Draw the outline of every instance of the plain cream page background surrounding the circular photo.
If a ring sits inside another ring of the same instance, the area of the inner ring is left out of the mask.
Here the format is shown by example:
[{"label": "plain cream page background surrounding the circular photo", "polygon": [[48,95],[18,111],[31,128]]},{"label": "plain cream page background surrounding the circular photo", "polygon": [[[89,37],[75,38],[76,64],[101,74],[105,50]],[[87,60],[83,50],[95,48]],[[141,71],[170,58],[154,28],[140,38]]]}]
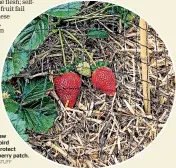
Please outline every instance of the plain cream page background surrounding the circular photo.
[{"label": "plain cream page background surrounding the circular photo", "polygon": [[[143,17],[160,35],[167,48],[174,64],[176,64],[176,47],[175,47],[175,30],[176,30],[176,2],[174,0],[109,0],[108,2],[116,3],[128,8]],[[5,28],[5,33],[0,34],[0,59],[2,74],[3,63],[8,49],[16,38],[18,33],[33,18],[44,11],[58,4],[65,3],[63,0],[35,0],[33,5],[26,6],[26,12],[11,12],[11,19],[0,20],[0,24]],[[175,168],[175,152],[176,152],[176,106],[174,105],[167,124],[159,134],[159,136],[138,155],[123,162],[120,165],[111,166],[119,168]],[[64,168],[63,166],[49,161],[34,150],[32,150],[14,131],[0,97],[0,134],[7,134],[10,139],[11,146],[17,148],[19,153],[27,153],[30,159],[16,159],[10,165],[0,165],[0,167],[31,168],[32,166],[42,168]],[[110,167],[109,167],[110,168]]]}]

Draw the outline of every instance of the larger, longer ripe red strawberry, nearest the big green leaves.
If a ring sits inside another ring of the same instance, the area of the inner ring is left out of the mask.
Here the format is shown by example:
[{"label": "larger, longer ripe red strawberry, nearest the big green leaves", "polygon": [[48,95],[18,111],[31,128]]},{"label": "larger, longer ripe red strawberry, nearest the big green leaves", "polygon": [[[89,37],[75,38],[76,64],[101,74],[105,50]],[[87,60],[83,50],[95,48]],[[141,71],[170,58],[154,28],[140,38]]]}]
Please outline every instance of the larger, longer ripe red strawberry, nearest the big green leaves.
[{"label": "larger, longer ripe red strawberry, nearest the big green leaves", "polygon": [[67,72],[54,78],[56,93],[64,105],[72,108],[75,103],[81,87],[81,79],[74,72]]}]

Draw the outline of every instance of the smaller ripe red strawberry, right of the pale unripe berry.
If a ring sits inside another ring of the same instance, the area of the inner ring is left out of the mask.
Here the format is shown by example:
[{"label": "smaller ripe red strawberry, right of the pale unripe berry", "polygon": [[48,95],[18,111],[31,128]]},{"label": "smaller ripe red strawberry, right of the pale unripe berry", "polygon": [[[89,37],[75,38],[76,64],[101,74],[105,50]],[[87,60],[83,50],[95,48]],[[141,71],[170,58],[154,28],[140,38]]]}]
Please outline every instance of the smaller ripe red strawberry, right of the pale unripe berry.
[{"label": "smaller ripe red strawberry, right of the pale unripe berry", "polygon": [[100,67],[93,72],[92,84],[96,89],[109,96],[113,96],[116,92],[115,75],[108,67]]}]

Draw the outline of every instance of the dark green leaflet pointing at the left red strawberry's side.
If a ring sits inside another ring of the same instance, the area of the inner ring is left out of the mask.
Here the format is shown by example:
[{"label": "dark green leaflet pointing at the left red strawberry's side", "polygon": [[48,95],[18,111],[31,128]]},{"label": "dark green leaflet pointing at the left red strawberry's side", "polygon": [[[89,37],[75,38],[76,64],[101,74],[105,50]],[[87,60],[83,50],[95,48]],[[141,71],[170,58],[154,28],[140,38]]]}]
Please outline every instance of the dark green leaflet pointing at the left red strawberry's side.
[{"label": "dark green leaflet pointing at the left red strawberry's side", "polygon": [[22,101],[29,103],[47,97],[45,92],[52,86],[53,84],[48,80],[48,78],[33,79],[27,84],[27,86],[25,86]]}]

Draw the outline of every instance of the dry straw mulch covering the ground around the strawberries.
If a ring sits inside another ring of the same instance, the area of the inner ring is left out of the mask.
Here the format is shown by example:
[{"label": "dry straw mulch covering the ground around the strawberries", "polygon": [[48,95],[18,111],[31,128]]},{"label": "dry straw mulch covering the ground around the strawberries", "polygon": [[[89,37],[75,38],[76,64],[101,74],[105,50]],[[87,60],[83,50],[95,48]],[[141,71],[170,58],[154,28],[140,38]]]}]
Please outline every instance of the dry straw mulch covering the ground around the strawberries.
[{"label": "dry straw mulch covering the ground around the strawberries", "polygon": [[[57,117],[47,133],[28,131],[28,143],[46,158],[60,164],[104,167],[125,161],[155,139],[172,108],[175,76],[163,41],[150,25],[140,27],[139,16],[128,21],[127,14],[119,16],[112,12],[112,4],[106,7],[105,4],[82,2],[81,11],[71,17],[70,9],[73,8],[68,3],[66,20],[49,17],[50,35],[36,50],[28,50],[29,65],[16,76],[25,79],[21,97],[34,78],[44,77],[42,85],[46,90],[47,79],[52,81],[58,68],[64,66],[59,34],[52,33],[53,28],[63,30],[67,63],[72,63],[75,57],[91,63],[84,49],[92,54],[95,61],[110,62],[109,67],[117,82],[114,97],[95,90],[91,79],[84,76],[81,76],[81,91],[73,109],[63,106],[54,89],[47,91],[57,104]],[[109,37],[88,38],[91,28],[106,30]],[[141,44],[141,29],[147,34],[146,45]],[[64,30],[76,37],[82,46]],[[142,48],[147,53],[144,60]],[[146,72],[143,67],[147,67]],[[145,74],[148,74],[146,80]],[[43,99],[38,120],[43,113]],[[19,113],[22,105],[23,101],[20,102]],[[35,124],[37,127],[38,123]]]}]

